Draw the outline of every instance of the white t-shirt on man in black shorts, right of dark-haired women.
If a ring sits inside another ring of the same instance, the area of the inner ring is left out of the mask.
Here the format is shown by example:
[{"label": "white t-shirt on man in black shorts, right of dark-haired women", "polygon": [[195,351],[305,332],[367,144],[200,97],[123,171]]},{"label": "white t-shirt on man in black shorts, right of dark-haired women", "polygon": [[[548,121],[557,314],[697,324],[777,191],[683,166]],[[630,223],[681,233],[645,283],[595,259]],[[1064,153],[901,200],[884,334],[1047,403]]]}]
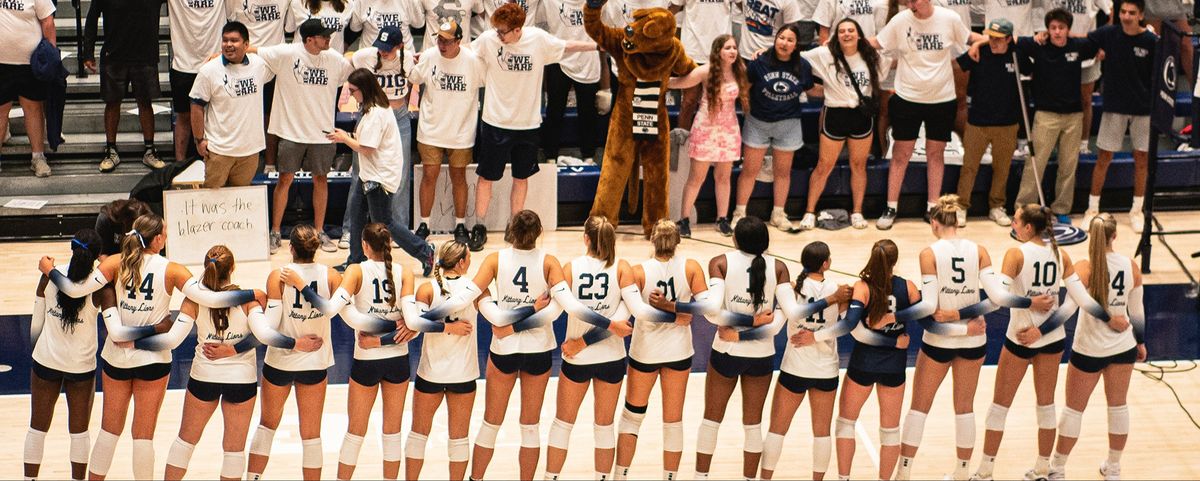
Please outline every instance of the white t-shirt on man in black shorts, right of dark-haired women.
[{"label": "white t-shirt on man in black shorts, right of dark-haired women", "polygon": [[934,6],[929,18],[917,18],[911,10],[898,13],[880,30],[880,46],[898,60],[895,91],[916,103],[954,100],[954,71],[950,61],[970,38],[959,17]]}]

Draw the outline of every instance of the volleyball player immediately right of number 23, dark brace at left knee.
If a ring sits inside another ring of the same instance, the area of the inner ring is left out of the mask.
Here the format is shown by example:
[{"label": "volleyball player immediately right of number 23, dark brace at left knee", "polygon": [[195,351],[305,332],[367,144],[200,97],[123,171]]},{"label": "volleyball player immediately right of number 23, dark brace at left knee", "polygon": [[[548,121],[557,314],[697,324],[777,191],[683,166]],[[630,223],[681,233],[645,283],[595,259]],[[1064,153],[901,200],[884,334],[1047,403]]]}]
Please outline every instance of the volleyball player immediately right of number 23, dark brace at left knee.
[{"label": "volleyball player immediately right of number 23, dark brace at left knee", "polygon": [[625,408],[617,422],[613,480],[624,480],[629,475],[650,390],[659,378],[662,379],[662,479],[677,479],[683,458],[683,405],[694,354],[691,314],[672,314],[646,302],[652,295],[662,296],[668,302],[688,302],[708,290],[708,285],[700,263],[677,255],[679,226],[674,222],[656,222],[650,232],[650,243],[654,245],[654,257],[632,266],[631,278],[622,279],[620,284],[622,300],[637,321],[629,343],[629,383],[625,385]]}]

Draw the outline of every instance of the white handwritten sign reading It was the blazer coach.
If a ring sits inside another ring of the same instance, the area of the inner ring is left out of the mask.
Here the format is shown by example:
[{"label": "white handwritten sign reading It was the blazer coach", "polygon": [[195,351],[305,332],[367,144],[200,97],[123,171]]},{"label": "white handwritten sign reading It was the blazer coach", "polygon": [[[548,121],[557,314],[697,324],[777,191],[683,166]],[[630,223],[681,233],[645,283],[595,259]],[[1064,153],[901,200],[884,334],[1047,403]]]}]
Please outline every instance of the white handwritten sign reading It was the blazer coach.
[{"label": "white handwritten sign reading It was the blazer coach", "polygon": [[204,263],[215,245],[238,261],[268,260],[266,186],[163,192],[167,257],[185,265]]}]

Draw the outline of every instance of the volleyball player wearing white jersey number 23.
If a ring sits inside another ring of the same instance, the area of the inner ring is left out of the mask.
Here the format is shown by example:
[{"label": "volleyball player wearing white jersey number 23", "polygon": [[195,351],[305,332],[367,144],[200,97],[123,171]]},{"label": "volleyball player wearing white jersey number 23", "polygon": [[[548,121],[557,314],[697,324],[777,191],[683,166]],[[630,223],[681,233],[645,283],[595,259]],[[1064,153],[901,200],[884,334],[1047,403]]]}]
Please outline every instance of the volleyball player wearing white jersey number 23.
[{"label": "volleyball player wearing white jersey number 23", "polygon": [[566,462],[571,429],[580,404],[593,390],[593,440],[595,475],[607,479],[616,457],[613,420],[620,383],[625,378],[625,342],[632,333],[629,309],[622,302],[620,281],[631,282],[629,263],[617,260],[617,229],[604,217],[583,224],[587,254],[563,267],[564,283],[552,289],[553,299],[570,314],[563,363],[558,377],[558,402],[546,449],[546,479],[557,480]]}]

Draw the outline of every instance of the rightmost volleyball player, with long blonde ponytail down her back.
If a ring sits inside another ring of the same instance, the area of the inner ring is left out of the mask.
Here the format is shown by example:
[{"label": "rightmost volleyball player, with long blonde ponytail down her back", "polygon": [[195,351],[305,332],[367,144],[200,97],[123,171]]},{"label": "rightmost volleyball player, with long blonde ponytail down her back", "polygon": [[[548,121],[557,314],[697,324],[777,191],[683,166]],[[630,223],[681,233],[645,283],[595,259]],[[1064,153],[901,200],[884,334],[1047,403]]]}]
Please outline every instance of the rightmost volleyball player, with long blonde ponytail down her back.
[{"label": "rightmost volleyball player, with long blonde ponytail down her back", "polygon": [[1129,439],[1129,377],[1133,363],[1146,360],[1141,271],[1128,257],[1112,251],[1117,222],[1111,215],[1092,220],[1087,234],[1087,259],[1075,264],[1075,272],[1087,279],[1085,285],[1094,303],[1082,305],[1075,324],[1067,367],[1067,407],[1058,421],[1058,444],[1048,476],[1051,480],[1066,477],[1067,456],[1079,440],[1084,409],[1100,377],[1109,405],[1109,456],[1100,463],[1100,474],[1106,480],[1121,479],[1121,452]]}]

